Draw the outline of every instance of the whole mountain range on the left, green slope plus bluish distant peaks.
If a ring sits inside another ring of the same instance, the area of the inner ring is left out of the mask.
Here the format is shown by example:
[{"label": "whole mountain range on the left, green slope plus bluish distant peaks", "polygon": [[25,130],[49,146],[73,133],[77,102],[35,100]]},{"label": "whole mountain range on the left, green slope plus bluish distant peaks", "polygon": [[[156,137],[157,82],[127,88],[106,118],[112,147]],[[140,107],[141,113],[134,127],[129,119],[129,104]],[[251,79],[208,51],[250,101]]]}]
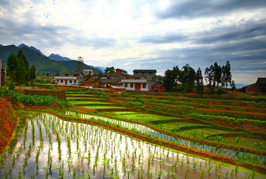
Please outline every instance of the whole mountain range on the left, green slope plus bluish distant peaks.
[{"label": "whole mountain range on the left, green slope plus bluish distant peaks", "polygon": [[[66,72],[75,72],[76,70],[75,60],[71,60],[68,57],[62,57],[58,54],[51,54],[46,57],[40,50],[33,46],[29,47],[23,43],[17,47],[15,45],[0,45],[0,58],[2,60],[2,64],[6,64],[7,57],[11,53],[16,55],[19,49],[21,49],[26,55],[29,65],[34,65],[36,67],[36,72],[48,72],[50,75],[55,75],[57,72],[64,74]],[[102,67],[93,67],[84,64],[84,68],[93,69],[102,73],[104,72]]]}]

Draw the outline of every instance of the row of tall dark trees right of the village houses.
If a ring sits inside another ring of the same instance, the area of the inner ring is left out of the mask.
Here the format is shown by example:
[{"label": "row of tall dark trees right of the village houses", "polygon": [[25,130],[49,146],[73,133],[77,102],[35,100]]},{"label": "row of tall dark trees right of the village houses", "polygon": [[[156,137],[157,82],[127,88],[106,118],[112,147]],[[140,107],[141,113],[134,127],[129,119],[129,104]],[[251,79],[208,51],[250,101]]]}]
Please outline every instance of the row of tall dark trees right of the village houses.
[{"label": "row of tall dark trees right of the village houses", "polygon": [[[207,67],[204,71],[204,80],[207,84],[207,89],[209,93],[214,93],[215,86],[217,85],[217,91],[219,84],[223,89],[227,90],[228,83],[233,84],[232,74],[231,74],[230,62],[227,61],[226,65],[222,67],[214,63],[210,67]],[[200,68],[195,70],[188,64],[183,66],[181,69],[178,66],[173,67],[173,70],[167,70],[164,77],[159,77],[160,81],[165,85],[168,91],[176,92],[190,92],[193,89],[197,90],[198,94],[203,93],[203,76]],[[232,86],[231,86],[232,87]]]}]

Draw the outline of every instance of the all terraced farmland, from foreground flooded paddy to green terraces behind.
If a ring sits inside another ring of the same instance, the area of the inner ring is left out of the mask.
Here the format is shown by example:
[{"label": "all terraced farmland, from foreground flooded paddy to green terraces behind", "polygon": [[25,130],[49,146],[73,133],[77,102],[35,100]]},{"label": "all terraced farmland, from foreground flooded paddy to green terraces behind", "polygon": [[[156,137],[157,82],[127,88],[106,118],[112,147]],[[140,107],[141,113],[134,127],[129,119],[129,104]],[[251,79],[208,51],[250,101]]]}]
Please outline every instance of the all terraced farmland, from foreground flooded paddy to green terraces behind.
[{"label": "all terraced farmland, from foreground flooded paddy to green terraces behind", "polygon": [[1,178],[266,177],[263,98],[66,93],[77,107],[17,110]]}]

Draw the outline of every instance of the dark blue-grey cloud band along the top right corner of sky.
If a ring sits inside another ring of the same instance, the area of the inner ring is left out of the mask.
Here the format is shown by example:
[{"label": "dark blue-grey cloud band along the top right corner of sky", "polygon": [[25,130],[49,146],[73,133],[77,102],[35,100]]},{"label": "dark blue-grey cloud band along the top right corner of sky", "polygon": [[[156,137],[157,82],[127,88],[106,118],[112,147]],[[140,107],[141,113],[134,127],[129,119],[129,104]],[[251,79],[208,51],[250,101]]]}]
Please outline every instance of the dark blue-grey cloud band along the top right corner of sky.
[{"label": "dark blue-grey cloud band along the top right corner of sky", "polygon": [[161,19],[217,17],[265,6],[265,0],[183,0],[174,1],[165,10],[157,11],[157,17]]}]

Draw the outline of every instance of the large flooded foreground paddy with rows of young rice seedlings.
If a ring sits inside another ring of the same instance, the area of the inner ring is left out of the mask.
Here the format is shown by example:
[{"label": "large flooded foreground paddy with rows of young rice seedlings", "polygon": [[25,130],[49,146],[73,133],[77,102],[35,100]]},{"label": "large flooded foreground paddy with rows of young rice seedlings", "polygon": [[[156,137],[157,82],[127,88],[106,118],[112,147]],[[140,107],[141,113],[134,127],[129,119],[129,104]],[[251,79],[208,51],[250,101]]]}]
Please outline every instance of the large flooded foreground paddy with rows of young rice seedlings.
[{"label": "large flooded foreground paddy with rows of young rice seedlings", "polygon": [[[263,179],[238,166],[136,140],[101,126],[23,113],[25,125],[0,156],[6,179]],[[12,144],[12,143],[11,143]]]}]

